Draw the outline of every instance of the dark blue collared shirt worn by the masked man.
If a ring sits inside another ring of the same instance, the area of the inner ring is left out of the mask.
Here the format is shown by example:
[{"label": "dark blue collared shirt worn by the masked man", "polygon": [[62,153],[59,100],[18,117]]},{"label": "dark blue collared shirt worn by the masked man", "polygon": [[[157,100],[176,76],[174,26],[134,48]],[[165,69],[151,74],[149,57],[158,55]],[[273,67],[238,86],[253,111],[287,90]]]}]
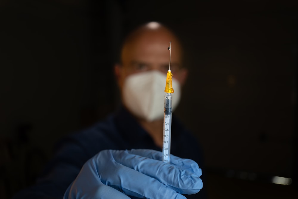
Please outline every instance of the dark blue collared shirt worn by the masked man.
[{"label": "dark blue collared shirt worn by the masked man", "polygon": [[[104,121],[63,139],[58,144],[55,157],[47,164],[36,185],[19,192],[14,199],[61,199],[83,164],[105,149],[162,150],[154,144],[152,138],[134,117],[121,108]],[[201,150],[195,138],[174,116],[172,118],[171,154],[180,158],[192,159],[200,167],[203,164]],[[202,172],[204,174],[204,169]],[[204,188],[198,194],[185,196],[187,198],[205,198],[206,190]]]}]

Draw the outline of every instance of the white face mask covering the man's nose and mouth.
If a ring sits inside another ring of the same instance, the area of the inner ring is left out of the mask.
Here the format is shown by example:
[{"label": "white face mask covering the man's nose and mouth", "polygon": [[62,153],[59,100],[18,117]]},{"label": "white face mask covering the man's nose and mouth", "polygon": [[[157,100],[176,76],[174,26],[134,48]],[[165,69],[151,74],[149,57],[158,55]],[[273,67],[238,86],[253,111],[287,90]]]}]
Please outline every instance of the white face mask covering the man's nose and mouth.
[{"label": "white face mask covering the man's nose and mouth", "polygon": [[[175,75],[175,74],[174,74]],[[139,118],[154,121],[164,115],[164,88],[167,75],[152,70],[129,75],[123,85],[123,103],[128,110]],[[181,90],[180,83],[175,78],[173,84],[172,109],[179,104]]]}]

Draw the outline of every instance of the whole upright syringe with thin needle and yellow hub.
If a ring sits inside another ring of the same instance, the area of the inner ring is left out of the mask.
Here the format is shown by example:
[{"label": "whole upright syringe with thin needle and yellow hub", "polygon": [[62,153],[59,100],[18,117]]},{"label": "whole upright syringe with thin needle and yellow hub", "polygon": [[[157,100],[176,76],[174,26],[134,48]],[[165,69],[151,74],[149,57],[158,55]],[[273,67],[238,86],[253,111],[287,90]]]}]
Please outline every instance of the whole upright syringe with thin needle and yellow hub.
[{"label": "whole upright syringe with thin needle and yellow hub", "polygon": [[170,70],[171,67],[171,46],[172,41],[170,41],[170,64],[169,70],[167,72],[167,81],[164,92],[164,129],[163,129],[163,144],[162,144],[162,161],[166,163],[170,163],[170,152],[171,152],[171,127],[172,127],[172,93],[174,89],[172,88],[172,72]]}]

